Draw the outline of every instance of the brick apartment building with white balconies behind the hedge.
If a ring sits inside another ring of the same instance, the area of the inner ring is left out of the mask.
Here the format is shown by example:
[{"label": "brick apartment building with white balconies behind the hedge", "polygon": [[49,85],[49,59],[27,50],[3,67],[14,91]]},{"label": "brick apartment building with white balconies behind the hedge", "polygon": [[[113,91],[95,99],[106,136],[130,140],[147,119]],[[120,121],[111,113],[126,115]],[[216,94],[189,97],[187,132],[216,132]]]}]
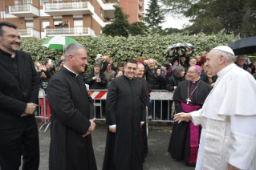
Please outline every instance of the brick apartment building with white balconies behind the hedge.
[{"label": "brick apartment building with white balconies behind the hedge", "polygon": [[0,21],[13,22],[23,38],[93,37],[113,22],[114,5],[128,8],[127,14],[132,13],[130,22],[142,19],[142,1],[120,1],[131,3],[126,6],[119,0],[0,0]]}]

